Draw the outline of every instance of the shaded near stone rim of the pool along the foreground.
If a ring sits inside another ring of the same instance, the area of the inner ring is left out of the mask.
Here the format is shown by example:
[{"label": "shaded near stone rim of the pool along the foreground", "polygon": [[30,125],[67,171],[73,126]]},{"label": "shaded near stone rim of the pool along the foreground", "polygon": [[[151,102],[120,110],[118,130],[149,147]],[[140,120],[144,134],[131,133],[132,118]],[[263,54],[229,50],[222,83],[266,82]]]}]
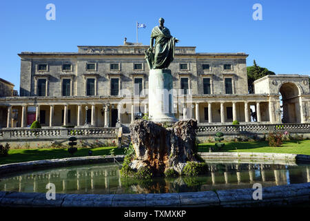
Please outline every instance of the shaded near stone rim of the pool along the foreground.
[{"label": "shaded near stone rim of the pool along the foreground", "polygon": [[0,206],[22,207],[145,207],[145,206],[285,206],[310,200],[310,182],[262,188],[262,200],[254,200],[255,189],[147,194],[63,194],[47,200],[45,193],[1,192]]}]

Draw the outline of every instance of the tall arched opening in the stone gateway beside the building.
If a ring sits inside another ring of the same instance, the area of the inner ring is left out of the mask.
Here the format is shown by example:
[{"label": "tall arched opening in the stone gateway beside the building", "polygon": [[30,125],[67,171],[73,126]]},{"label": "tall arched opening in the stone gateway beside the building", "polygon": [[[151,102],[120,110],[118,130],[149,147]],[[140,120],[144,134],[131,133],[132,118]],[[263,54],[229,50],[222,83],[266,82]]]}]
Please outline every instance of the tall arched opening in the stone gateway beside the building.
[{"label": "tall arched opening in the stone gateway beside the building", "polygon": [[293,82],[283,82],[278,93],[282,95],[283,123],[300,123],[300,95],[301,88]]}]

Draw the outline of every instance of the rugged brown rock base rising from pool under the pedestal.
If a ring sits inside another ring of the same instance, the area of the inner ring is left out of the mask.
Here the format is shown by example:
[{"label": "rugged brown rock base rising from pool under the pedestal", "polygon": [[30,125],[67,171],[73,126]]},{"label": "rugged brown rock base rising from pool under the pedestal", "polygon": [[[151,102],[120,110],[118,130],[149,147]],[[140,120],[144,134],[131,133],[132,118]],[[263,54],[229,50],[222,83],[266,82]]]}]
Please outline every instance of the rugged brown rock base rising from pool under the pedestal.
[{"label": "rugged brown rock base rising from pool under the pedestal", "polygon": [[130,168],[138,171],[147,167],[155,176],[174,169],[180,175],[186,162],[196,162],[196,128],[194,119],[176,122],[169,128],[144,119],[135,120],[130,125],[130,135],[136,157]]}]

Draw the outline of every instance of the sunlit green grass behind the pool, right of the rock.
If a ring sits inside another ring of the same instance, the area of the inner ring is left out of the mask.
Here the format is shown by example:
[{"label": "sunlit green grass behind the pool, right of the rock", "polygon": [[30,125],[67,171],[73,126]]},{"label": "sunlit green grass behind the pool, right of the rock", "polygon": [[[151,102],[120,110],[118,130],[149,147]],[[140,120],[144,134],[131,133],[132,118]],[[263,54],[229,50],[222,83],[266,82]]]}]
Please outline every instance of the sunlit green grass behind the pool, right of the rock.
[{"label": "sunlit green grass behind the pool, right of the rock", "polygon": [[[214,143],[199,144],[198,151],[209,152],[209,147]],[[295,153],[310,155],[310,140],[298,142],[283,142],[280,147],[268,146],[268,142],[226,142],[223,152],[250,152],[250,153]]]}]

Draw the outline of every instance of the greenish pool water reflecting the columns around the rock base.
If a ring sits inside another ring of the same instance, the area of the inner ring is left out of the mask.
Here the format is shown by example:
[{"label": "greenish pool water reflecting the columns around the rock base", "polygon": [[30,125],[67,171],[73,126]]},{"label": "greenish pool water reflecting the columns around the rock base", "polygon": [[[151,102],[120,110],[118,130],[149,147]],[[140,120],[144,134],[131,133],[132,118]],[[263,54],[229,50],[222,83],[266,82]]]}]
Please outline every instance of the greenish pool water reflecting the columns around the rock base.
[{"label": "greenish pool water reflecting the columns around the rock base", "polygon": [[0,178],[0,191],[45,193],[52,182],[56,193],[177,193],[252,188],[310,182],[310,166],[280,164],[213,164],[198,177],[155,177],[152,180],[122,178],[116,164],[94,164],[48,169]]}]

